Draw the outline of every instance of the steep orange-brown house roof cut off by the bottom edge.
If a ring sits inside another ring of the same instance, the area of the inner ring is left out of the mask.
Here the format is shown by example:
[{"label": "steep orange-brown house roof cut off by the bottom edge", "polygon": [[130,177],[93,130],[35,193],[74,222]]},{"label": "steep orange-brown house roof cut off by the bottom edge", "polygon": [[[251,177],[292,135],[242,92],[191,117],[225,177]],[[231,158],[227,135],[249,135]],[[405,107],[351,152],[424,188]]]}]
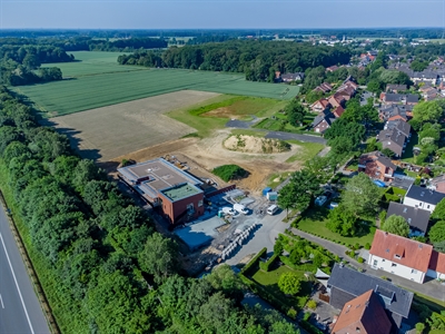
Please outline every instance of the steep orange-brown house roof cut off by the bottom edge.
[{"label": "steep orange-brown house roof cut off by the bottom edge", "polygon": [[343,306],[332,333],[389,334],[392,326],[377,293],[369,289]]}]

